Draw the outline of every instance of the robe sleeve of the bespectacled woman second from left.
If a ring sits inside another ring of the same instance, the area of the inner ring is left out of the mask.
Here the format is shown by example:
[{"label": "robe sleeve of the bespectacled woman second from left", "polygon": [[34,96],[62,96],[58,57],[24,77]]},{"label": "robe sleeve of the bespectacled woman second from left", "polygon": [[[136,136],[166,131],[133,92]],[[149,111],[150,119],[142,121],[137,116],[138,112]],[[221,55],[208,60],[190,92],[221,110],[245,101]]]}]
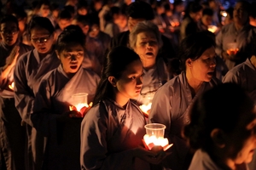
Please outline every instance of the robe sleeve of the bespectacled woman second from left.
[{"label": "robe sleeve of the bespectacled woman second from left", "polygon": [[22,121],[32,126],[31,113],[34,104],[34,94],[27,85],[26,65],[22,60],[15,66],[15,107],[19,111]]}]

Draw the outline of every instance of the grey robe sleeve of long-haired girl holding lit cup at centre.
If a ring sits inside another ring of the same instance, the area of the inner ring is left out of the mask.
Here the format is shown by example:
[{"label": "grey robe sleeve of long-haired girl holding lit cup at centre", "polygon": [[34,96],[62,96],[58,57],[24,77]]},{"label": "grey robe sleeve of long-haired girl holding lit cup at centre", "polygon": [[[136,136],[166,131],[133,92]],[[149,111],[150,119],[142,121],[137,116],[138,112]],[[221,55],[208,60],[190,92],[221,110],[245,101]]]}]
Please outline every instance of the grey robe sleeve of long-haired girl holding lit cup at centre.
[{"label": "grey robe sleeve of long-haired girl holding lit cup at centre", "polygon": [[108,113],[103,110],[96,105],[84,116],[81,124],[81,168],[132,169],[132,150],[108,153]]}]

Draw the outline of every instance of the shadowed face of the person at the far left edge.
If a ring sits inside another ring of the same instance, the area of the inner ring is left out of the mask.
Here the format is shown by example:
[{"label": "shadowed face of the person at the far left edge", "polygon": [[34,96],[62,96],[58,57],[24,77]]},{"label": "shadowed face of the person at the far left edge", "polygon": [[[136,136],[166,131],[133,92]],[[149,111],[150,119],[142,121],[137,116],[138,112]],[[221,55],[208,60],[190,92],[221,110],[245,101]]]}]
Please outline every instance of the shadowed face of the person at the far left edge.
[{"label": "shadowed face of the person at the far left edge", "polygon": [[17,41],[19,33],[19,28],[15,22],[3,23],[1,24],[0,29],[0,35],[3,39],[3,42],[8,46],[14,45]]}]

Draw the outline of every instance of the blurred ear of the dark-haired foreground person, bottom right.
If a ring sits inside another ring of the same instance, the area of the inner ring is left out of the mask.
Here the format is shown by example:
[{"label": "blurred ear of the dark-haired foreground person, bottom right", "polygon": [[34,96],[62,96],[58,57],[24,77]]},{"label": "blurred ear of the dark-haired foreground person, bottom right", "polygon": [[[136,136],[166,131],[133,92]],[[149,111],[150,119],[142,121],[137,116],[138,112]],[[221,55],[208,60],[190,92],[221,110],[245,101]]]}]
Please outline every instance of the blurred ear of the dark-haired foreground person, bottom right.
[{"label": "blurred ear of the dark-haired foreground person, bottom right", "polygon": [[217,145],[219,148],[225,147],[225,134],[223,130],[219,128],[214,128],[211,132],[211,138],[215,145]]}]

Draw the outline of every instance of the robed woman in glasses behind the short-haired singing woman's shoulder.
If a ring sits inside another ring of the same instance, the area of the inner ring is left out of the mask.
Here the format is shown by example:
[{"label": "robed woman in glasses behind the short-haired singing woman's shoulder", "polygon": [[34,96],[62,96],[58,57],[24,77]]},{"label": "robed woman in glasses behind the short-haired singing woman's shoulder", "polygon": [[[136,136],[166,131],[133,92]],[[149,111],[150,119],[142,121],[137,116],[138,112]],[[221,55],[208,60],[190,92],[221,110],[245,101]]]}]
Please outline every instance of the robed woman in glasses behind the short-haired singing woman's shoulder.
[{"label": "robed woman in glasses behind the short-haired singing woman's shoulder", "polygon": [[[44,139],[44,136],[32,128],[32,107],[35,94],[38,92],[38,83],[47,72],[60,65],[60,60],[55,54],[55,30],[49,19],[32,18],[28,31],[34,49],[21,56],[15,66],[15,106],[27,128],[26,169],[38,169],[42,165],[44,151],[44,143],[38,139]],[[41,147],[42,150],[34,150],[37,147]]]}]

